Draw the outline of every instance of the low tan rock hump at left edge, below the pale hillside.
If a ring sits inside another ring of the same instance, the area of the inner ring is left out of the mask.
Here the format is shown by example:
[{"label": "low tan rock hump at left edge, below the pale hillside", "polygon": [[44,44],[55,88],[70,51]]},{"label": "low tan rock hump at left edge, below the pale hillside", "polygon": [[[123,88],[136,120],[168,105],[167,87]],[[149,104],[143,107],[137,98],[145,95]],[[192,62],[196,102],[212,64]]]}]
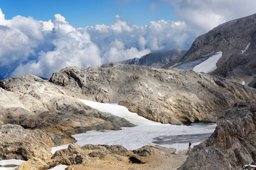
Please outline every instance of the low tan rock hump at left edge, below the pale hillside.
[{"label": "low tan rock hump at left edge, below the pale hillside", "polygon": [[51,133],[24,129],[19,125],[0,126],[0,158],[28,160],[37,157],[46,160],[51,156]]}]

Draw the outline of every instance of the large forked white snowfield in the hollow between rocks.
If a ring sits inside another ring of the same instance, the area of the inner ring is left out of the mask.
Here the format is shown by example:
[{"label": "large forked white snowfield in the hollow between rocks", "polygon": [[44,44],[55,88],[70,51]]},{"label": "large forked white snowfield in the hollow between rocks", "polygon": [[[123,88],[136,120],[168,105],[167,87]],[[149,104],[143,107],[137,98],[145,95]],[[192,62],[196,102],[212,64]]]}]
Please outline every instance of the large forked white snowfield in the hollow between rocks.
[{"label": "large forked white snowfield in the hollow between rocks", "polygon": [[[146,145],[156,145],[153,143],[154,138],[156,137],[165,137],[171,135],[184,135],[185,137],[187,135],[189,137],[189,135],[192,134],[213,133],[216,128],[216,124],[208,126],[160,124],[159,122],[150,121],[146,118],[138,116],[137,113],[131,113],[126,107],[121,105],[97,103],[95,101],[81,99],[79,100],[90,107],[98,109],[101,112],[108,112],[114,114],[115,116],[123,117],[127,121],[130,121],[136,125],[133,128],[123,127],[122,130],[92,130],[86,131],[86,133],[72,135],[72,137],[77,140],[77,144],[80,146],[86,144],[122,145],[123,147],[127,148],[127,150],[135,150]],[[192,146],[198,145],[200,142],[192,143]],[[176,152],[179,152],[188,148],[188,142],[177,142],[161,146],[176,148]],[[54,154],[56,150],[67,147],[68,145],[53,147],[51,152]]]}]

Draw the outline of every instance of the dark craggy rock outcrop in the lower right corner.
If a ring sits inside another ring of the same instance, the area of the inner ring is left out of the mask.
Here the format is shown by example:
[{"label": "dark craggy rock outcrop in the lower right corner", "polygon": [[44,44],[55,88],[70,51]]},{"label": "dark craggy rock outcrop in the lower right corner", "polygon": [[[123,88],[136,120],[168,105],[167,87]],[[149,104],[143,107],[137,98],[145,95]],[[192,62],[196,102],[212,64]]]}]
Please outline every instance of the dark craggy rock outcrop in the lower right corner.
[{"label": "dark craggy rock outcrop in the lower right corner", "polygon": [[240,169],[256,159],[255,103],[226,111],[210,138],[195,146],[180,169]]}]

